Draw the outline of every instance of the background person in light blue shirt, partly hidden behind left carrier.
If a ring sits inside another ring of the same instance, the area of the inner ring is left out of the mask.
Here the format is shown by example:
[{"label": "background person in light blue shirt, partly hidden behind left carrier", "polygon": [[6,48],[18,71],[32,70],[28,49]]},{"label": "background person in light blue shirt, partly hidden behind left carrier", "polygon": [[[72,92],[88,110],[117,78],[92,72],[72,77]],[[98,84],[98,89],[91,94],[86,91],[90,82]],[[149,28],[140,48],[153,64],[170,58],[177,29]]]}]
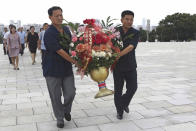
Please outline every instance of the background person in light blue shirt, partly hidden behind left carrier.
[{"label": "background person in light blue shirt, partly hidden behind left carrier", "polygon": [[40,36],[39,36],[39,44],[38,44],[38,49],[41,49],[41,53],[42,53],[42,60],[46,54],[46,47],[44,45],[44,34],[45,31],[48,29],[48,23],[44,23],[43,24],[43,30],[42,32],[40,32]]}]

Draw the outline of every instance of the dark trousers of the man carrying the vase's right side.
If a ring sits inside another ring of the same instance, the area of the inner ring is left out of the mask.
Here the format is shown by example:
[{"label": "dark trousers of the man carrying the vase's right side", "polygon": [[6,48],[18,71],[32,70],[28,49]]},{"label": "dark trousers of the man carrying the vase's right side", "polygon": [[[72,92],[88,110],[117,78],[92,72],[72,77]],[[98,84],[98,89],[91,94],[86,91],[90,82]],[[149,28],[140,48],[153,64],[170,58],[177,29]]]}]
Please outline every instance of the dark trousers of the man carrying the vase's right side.
[{"label": "dark trousers of the man carrying the vase's right side", "polygon": [[[133,95],[137,90],[137,71],[136,69],[121,72],[114,69],[114,103],[119,114],[123,114],[123,109],[129,106]],[[123,92],[124,81],[126,81],[126,92]]]}]

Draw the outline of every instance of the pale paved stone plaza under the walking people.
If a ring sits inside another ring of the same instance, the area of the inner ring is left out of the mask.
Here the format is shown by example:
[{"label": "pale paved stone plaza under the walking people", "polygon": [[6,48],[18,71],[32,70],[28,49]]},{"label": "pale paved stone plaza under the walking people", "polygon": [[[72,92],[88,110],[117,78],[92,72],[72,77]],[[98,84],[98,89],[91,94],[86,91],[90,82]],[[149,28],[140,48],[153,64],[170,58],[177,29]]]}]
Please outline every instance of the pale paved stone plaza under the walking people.
[{"label": "pale paved stone plaza under the walking people", "polygon": [[[37,54],[31,65],[25,49],[16,71],[0,45],[0,131],[196,131],[196,42],[139,43],[139,87],[123,120],[116,119],[113,96],[94,99],[97,84],[75,75],[73,119],[63,129],[56,127]],[[111,74],[106,83],[113,89]]]}]

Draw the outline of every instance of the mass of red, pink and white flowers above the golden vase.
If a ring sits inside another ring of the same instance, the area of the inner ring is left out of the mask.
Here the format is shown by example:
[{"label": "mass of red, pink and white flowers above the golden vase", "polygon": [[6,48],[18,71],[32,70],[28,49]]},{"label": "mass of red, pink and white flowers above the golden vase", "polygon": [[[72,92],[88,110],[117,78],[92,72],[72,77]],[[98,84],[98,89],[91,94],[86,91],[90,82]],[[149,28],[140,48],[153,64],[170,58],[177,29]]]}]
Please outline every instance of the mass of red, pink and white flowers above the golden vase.
[{"label": "mass of red, pink and white flowers above the golden vase", "polygon": [[104,27],[95,19],[86,19],[73,32],[70,54],[78,62],[79,71],[88,75],[99,67],[113,69],[122,41],[115,27]]}]

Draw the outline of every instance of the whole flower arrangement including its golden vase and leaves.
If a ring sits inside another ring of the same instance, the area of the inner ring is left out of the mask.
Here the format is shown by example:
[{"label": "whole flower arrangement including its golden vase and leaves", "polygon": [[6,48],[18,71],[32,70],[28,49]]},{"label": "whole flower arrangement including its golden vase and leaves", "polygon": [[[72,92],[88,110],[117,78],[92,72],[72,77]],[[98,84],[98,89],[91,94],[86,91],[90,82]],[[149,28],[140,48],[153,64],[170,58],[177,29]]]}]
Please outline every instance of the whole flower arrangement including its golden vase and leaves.
[{"label": "whole flower arrangement including its golden vase and leaves", "polygon": [[98,82],[99,92],[95,98],[113,94],[112,90],[106,88],[105,79],[109,68],[113,70],[123,45],[120,32],[112,27],[113,23],[110,23],[112,20],[109,18],[106,23],[102,21],[102,24],[95,19],[86,19],[83,25],[69,22],[72,40],[66,33],[60,35],[61,46],[69,49],[71,57],[79,65],[78,73],[82,77],[90,74]]}]

